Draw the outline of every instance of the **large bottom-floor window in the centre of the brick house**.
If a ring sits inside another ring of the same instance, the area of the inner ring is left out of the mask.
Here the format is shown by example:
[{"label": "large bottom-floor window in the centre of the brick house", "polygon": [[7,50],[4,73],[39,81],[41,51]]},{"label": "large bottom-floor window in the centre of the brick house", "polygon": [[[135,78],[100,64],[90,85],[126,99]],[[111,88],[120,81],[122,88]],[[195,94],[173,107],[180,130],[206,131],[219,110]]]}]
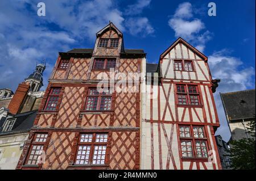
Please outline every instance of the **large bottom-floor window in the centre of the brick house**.
[{"label": "large bottom-floor window in the centre of the brick house", "polygon": [[107,133],[81,134],[75,163],[77,165],[104,165],[107,143]]}]

